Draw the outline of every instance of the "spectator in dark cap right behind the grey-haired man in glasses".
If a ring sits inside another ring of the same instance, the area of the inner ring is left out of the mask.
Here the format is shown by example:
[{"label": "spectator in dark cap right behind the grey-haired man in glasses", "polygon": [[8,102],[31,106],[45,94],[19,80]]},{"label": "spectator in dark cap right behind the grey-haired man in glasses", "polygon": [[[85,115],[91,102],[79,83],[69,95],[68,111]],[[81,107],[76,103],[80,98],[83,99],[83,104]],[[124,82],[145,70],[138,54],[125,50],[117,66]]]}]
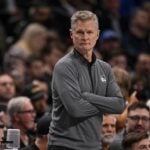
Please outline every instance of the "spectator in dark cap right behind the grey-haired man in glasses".
[{"label": "spectator in dark cap right behind the grey-haired man in glasses", "polygon": [[36,111],[36,121],[49,111],[47,104],[48,86],[45,82],[38,80],[32,81],[32,83],[25,85],[22,95],[31,99]]}]

